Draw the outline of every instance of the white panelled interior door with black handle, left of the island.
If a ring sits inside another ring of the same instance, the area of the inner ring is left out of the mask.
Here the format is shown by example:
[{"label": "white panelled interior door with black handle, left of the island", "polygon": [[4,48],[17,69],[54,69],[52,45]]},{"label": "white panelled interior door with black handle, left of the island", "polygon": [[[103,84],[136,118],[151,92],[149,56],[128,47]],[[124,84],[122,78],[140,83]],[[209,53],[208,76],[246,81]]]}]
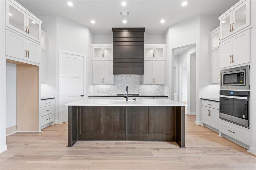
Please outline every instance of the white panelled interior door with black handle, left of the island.
[{"label": "white panelled interior door with black handle, left of the island", "polygon": [[62,122],[68,121],[66,103],[84,99],[84,57],[61,53],[62,57]]}]

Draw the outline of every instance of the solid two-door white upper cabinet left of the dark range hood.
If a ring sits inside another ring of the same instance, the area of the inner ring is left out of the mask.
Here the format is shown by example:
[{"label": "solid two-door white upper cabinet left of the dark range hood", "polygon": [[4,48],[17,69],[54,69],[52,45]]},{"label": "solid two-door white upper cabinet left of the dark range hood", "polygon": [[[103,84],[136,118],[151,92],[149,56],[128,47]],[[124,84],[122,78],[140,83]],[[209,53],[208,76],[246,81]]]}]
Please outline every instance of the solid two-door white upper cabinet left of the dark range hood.
[{"label": "solid two-door white upper cabinet left of the dark range hood", "polygon": [[92,84],[114,84],[113,60],[92,61]]}]

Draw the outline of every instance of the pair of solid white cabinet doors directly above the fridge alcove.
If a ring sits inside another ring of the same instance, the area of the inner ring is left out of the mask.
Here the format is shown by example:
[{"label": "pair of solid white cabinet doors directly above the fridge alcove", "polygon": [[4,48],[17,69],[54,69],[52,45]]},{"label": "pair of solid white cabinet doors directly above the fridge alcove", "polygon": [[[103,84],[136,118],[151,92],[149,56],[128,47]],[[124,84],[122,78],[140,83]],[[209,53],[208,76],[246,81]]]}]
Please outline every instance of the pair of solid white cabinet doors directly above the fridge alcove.
[{"label": "pair of solid white cabinet doors directly above the fridge alcove", "polygon": [[5,55],[40,63],[41,45],[12,31],[5,30]]}]

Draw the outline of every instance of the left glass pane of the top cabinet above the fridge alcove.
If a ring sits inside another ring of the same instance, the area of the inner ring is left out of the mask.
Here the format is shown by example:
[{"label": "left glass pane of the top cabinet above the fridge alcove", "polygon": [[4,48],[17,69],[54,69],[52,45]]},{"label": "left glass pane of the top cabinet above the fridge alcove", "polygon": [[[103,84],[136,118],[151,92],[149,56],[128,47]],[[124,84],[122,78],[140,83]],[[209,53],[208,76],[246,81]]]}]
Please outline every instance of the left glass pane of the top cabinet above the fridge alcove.
[{"label": "left glass pane of the top cabinet above the fridge alcove", "polygon": [[9,5],[9,9],[10,25],[24,31],[24,14],[11,5]]}]

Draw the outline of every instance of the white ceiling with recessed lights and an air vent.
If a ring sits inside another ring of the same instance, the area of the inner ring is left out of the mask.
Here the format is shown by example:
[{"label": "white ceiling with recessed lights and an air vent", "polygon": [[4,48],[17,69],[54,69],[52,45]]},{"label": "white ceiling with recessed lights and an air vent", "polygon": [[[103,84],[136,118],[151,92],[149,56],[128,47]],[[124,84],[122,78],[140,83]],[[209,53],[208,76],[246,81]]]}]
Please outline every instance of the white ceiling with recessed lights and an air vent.
[{"label": "white ceiling with recessed lights and an air vent", "polygon": [[[238,0],[17,0],[36,16],[59,16],[88,26],[93,34],[111,34],[112,27],[146,27],[146,34],[164,34],[169,25],[199,14],[221,15]],[[120,16],[119,11],[130,11]],[[123,24],[122,20],[127,23]],[[165,19],[161,24],[160,20]],[[95,20],[95,24],[91,24]]]}]

